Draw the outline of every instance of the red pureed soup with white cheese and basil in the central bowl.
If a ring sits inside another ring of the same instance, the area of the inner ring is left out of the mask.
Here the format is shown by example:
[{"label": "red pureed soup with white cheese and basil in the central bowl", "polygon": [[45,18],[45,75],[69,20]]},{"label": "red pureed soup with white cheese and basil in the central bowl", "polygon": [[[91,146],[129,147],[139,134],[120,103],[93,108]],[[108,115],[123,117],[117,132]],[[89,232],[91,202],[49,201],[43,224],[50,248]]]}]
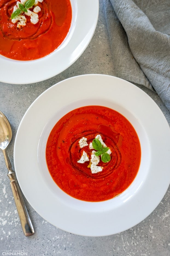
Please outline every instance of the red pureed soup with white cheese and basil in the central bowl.
[{"label": "red pureed soup with white cheese and basil in the central bowl", "polygon": [[55,124],[46,144],[52,179],[83,201],[104,201],[122,193],[136,177],[140,158],[131,123],[104,106],[69,112]]}]

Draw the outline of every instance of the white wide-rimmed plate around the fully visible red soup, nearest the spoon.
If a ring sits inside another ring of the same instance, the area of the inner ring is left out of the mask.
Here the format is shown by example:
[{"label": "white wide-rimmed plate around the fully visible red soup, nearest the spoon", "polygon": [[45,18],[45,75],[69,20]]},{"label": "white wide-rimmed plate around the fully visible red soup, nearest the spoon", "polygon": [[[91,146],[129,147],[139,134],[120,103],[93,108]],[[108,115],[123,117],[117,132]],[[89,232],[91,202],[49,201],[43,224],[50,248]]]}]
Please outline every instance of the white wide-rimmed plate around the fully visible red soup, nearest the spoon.
[{"label": "white wide-rimmed plate around the fully visible red soup, nearest the spoon", "polygon": [[[64,193],[45,161],[46,141],[54,124],[86,105],[103,105],[123,114],[141,144],[135,180],[121,195],[103,202],[80,201]],[[125,80],[91,74],[61,81],[33,102],[17,131],[14,165],[22,192],[45,220],[74,234],[104,236],[129,229],[157,207],[170,183],[169,152],[169,125],[156,103]]]}]

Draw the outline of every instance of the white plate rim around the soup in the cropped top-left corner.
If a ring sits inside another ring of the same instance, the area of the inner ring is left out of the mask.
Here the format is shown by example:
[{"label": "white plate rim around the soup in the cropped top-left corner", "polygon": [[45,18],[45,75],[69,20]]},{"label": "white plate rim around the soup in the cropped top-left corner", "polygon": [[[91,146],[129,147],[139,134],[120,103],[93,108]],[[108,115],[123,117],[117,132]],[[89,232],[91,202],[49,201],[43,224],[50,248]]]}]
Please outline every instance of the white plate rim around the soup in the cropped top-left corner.
[{"label": "white plate rim around the soup in the cropped top-left corner", "polygon": [[99,0],[70,1],[72,23],[64,42],[54,52],[38,60],[17,61],[0,55],[1,82],[28,84],[43,81],[61,73],[80,57],[94,34]]}]

